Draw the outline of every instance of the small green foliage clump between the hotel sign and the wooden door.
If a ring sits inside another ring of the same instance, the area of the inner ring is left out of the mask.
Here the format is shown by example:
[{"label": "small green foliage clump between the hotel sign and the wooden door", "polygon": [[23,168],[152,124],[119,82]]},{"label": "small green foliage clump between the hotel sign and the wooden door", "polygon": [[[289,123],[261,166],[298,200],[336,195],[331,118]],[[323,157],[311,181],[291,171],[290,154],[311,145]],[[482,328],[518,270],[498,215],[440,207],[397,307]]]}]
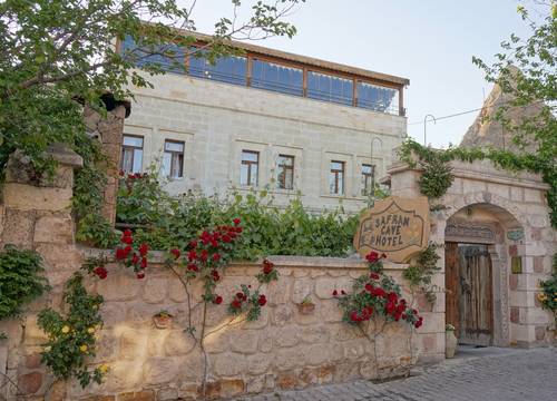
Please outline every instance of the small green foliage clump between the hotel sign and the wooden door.
[{"label": "small green foliage clump between the hotel sign and the wooden door", "polygon": [[429,303],[437,300],[436,287],[431,284],[433,275],[440,268],[437,267],[439,255],[436,252],[438,246],[429,244],[426,250],[420,252],[414,263],[408,266],[402,276],[409,281],[410,286],[418,286],[426,295]]}]

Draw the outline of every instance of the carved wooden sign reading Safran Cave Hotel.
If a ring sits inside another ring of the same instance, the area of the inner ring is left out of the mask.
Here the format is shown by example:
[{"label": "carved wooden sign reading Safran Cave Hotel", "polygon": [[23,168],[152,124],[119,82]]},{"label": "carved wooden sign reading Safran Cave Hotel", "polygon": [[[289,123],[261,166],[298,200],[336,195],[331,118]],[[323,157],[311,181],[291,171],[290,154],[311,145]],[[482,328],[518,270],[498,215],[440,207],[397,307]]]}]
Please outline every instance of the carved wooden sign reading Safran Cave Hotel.
[{"label": "carved wooden sign reading Safran Cave Hotel", "polygon": [[362,257],[375,251],[385,253],[391,262],[403,263],[428,246],[429,228],[427,197],[390,196],[361,216],[354,247]]}]

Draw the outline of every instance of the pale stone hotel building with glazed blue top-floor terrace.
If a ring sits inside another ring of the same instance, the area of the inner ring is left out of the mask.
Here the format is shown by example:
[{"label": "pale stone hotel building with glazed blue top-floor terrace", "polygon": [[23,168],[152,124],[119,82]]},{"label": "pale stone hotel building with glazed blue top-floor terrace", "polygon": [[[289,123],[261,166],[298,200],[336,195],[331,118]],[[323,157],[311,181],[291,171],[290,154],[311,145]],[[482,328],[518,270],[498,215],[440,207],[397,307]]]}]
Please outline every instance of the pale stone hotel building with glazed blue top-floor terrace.
[{"label": "pale stone hotel building with glazed blue top-floor terrace", "polygon": [[154,88],[133,88],[123,169],[158,160],[172,194],[268,187],[277,204],[301,192],[311,209],[364,207],[372,176],[407,135],[409,80],[235,45],[243,56],[185,58],[186,72],[167,65],[149,77]]}]

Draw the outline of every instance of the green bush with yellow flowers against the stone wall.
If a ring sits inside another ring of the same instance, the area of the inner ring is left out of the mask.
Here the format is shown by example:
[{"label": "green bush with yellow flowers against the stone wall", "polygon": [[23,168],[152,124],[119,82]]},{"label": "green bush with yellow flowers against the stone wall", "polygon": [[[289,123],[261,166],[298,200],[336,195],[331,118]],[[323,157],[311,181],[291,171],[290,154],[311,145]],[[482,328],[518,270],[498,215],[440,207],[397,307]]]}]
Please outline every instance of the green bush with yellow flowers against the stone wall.
[{"label": "green bush with yellow flowers against the stone wall", "polygon": [[87,369],[87,360],[96,353],[95,333],[102,325],[99,313],[102,296],[89,295],[82,278],[80,273],[76,273],[66,283],[63,302],[69,306],[68,313],[61,315],[47,307],[39,313],[38,324],[48,335],[42,362],[57,379],[75,376],[85,388],[91,381],[100,384],[107,368]]}]

